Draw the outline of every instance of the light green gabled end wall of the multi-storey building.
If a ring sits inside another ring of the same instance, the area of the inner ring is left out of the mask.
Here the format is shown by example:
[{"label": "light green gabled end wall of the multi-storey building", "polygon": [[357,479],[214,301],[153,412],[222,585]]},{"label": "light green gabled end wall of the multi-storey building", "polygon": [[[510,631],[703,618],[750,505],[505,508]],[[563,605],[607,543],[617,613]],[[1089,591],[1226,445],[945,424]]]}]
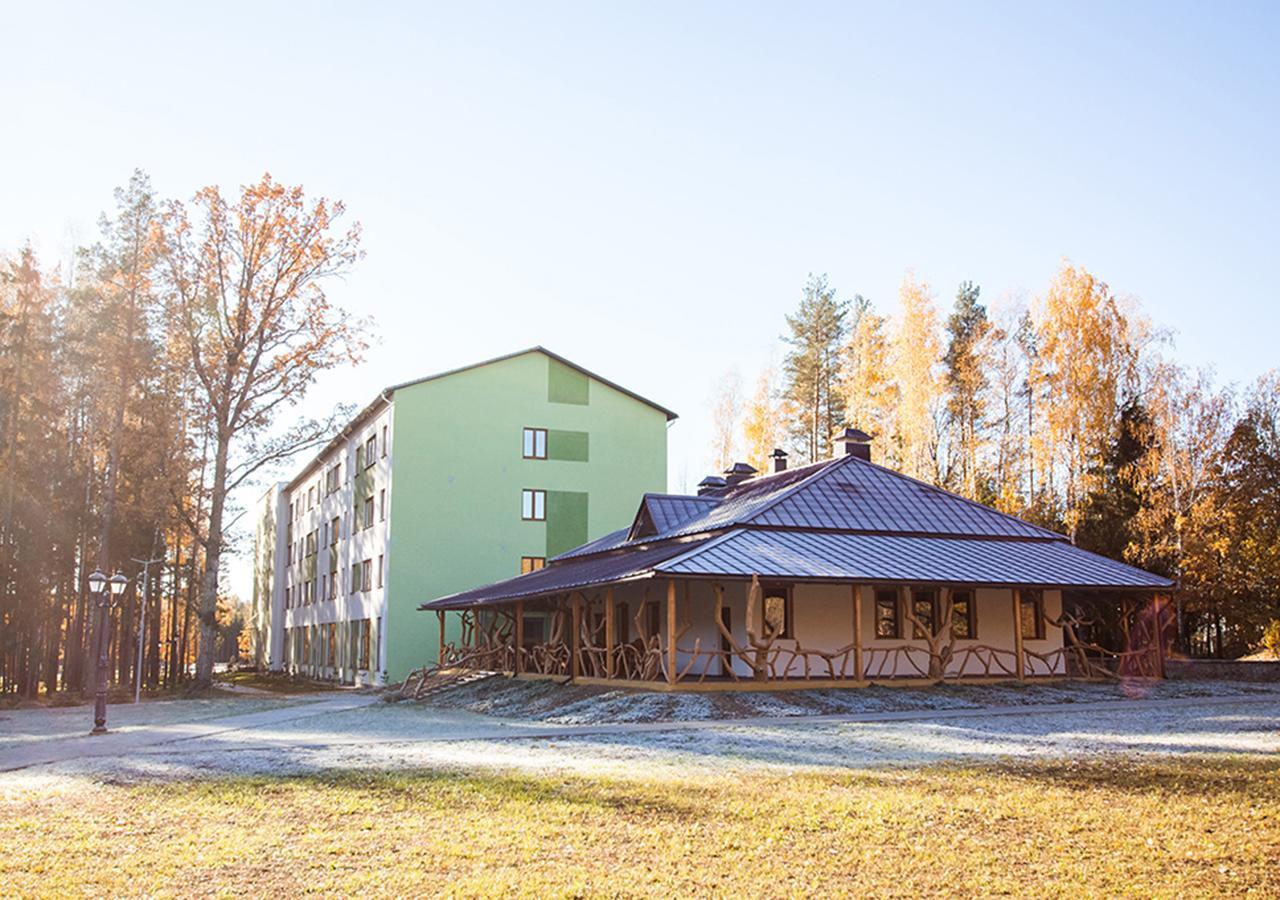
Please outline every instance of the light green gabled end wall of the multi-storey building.
[{"label": "light green gabled end wall of the multi-storey building", "polygon": [[[393,415],[384,626],[393,681],[435,661],[436,616],[420,603],[518,575],[522,556],[623,527],[641,494],[667,486],[666,416],[543,353],[402,388]],[[561,458],[524,460],[524,428],[548,429],[549,457],[561,434]],[[521,520],[525,488],[547,492],[547,522]],[[452,623],[447,636],[456,638]]]}]

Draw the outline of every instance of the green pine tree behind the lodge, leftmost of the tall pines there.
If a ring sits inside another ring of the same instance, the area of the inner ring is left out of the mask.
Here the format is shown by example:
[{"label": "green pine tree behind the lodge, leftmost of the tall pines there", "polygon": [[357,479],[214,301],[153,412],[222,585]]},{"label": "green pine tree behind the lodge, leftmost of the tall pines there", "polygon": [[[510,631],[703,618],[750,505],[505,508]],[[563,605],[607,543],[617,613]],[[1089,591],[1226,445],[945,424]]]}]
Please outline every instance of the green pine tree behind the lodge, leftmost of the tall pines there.
[{"label": "green pine tree behind the lodge, leftmost of the tall pines there", "polygon": [[840,387],[841,350],[847,306],[836,300],[826,275],[809,275],[800,309],[787,316],[791,347],[783,365],[786,398],[792,408],[792,439],[806,461],[831,453],[831,438],[844,422]]}]

